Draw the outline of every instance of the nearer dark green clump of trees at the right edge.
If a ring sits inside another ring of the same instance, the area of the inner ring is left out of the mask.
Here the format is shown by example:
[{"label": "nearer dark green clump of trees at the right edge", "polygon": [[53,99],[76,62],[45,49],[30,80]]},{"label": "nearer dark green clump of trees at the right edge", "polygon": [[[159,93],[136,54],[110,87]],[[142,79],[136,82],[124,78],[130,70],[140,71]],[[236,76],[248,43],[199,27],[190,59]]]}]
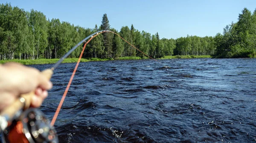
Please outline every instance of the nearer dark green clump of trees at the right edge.
[{"label": "nearer dark green clump of trees at the right edge", "polygon": [[216,51],[213,57],[256,57],[256,10],[247,8],[239,14],[238,22],[227,25],[223,34],[214,37]]}]

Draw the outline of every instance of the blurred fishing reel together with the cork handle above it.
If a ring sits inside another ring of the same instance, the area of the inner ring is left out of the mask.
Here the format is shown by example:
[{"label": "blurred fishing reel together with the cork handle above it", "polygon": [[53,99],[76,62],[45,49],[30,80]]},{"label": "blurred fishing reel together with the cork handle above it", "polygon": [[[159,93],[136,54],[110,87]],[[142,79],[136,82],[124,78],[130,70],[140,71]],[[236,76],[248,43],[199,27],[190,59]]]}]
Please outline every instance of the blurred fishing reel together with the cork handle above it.
[{"label": "blurred fishing reel together with the cork handle above it", "polygon": [[[42,73],[51,79],[51,69]],[[44,113],[30,107],[34,95],[35,92],[20,95],[12,105],[0,112],[3,143],[58,143],[56,130]]]}]

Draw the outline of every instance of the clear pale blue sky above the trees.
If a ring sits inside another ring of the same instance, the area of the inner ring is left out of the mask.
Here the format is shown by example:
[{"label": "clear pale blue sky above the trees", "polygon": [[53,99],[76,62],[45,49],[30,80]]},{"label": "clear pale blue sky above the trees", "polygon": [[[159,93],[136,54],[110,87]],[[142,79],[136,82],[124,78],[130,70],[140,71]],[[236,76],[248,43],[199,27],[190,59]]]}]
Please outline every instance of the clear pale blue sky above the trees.
[{"label": "clear pale blue sky above the trees", "polygon": [[12,6],[41,11],[47,19],[58,18],[84,28],[101,25],[107,14],[112,28],[122,26],[158,34],[160,38],[215,36],[243,8],[253,12],[256,0],[0,0]]}]

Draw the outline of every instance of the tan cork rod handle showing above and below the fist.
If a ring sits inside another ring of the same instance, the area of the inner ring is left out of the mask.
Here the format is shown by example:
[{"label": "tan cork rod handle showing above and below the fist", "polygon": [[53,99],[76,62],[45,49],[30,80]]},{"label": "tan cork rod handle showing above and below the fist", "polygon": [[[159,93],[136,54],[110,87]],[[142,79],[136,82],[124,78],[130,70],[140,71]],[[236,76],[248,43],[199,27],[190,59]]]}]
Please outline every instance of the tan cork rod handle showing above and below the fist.
[{"label": "tan cork rod handle showing above and below the fist", "polygon": [[[47,77],[47,79],[51,79],[52,77],[52,70],[51,69],[47,69],[42,71],[42,74],[44,76]],[[6,109],[4,109],[0,115],[7,117],[8,121],[12,120],[13,117],[15,116],[15,114],[20,110],[26,110],[30,107],[31,104],[31,100],[32,97],[35,95],[35,91],[31,92],[31,93],[27,93],[27,94],[22,94],[20,95],[20,98],[18,98],[12,105],[9,105],[9,107],[6,107]]]}]

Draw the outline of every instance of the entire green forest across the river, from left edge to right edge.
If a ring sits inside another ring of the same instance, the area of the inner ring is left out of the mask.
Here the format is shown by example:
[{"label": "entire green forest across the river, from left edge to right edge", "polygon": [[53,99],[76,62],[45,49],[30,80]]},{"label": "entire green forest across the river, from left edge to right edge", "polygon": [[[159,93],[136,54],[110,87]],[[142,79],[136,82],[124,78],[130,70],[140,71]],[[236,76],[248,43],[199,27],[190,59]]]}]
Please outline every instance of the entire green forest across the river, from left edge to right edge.
[{"label": "entire green forest across the river, from left edge to right edge", "polygon": [[[137,30],[134,25],[122,26],[120,31],[111,28],[107,14],[103,14],[101,25],[83,28],[70,22],[61,22],[47,17],[40,11],[0,5],[0,60],[9,59],[58,59],[86,36],[99,31],[113,31],[139,50],[153,58],[172,55],[212,55],[212,57],[255,57],[256,12],[246,8],[239,14],[237,23],[224,28],[216,36],[189,36],[177,39],[160,39],[158,32],[150,34]],[[82,45],[70,58],[79,57]],[[103,33],[92,39],[83,58],[111,58],[139,56],[142,53],[132,48],[118,36]]]}]

